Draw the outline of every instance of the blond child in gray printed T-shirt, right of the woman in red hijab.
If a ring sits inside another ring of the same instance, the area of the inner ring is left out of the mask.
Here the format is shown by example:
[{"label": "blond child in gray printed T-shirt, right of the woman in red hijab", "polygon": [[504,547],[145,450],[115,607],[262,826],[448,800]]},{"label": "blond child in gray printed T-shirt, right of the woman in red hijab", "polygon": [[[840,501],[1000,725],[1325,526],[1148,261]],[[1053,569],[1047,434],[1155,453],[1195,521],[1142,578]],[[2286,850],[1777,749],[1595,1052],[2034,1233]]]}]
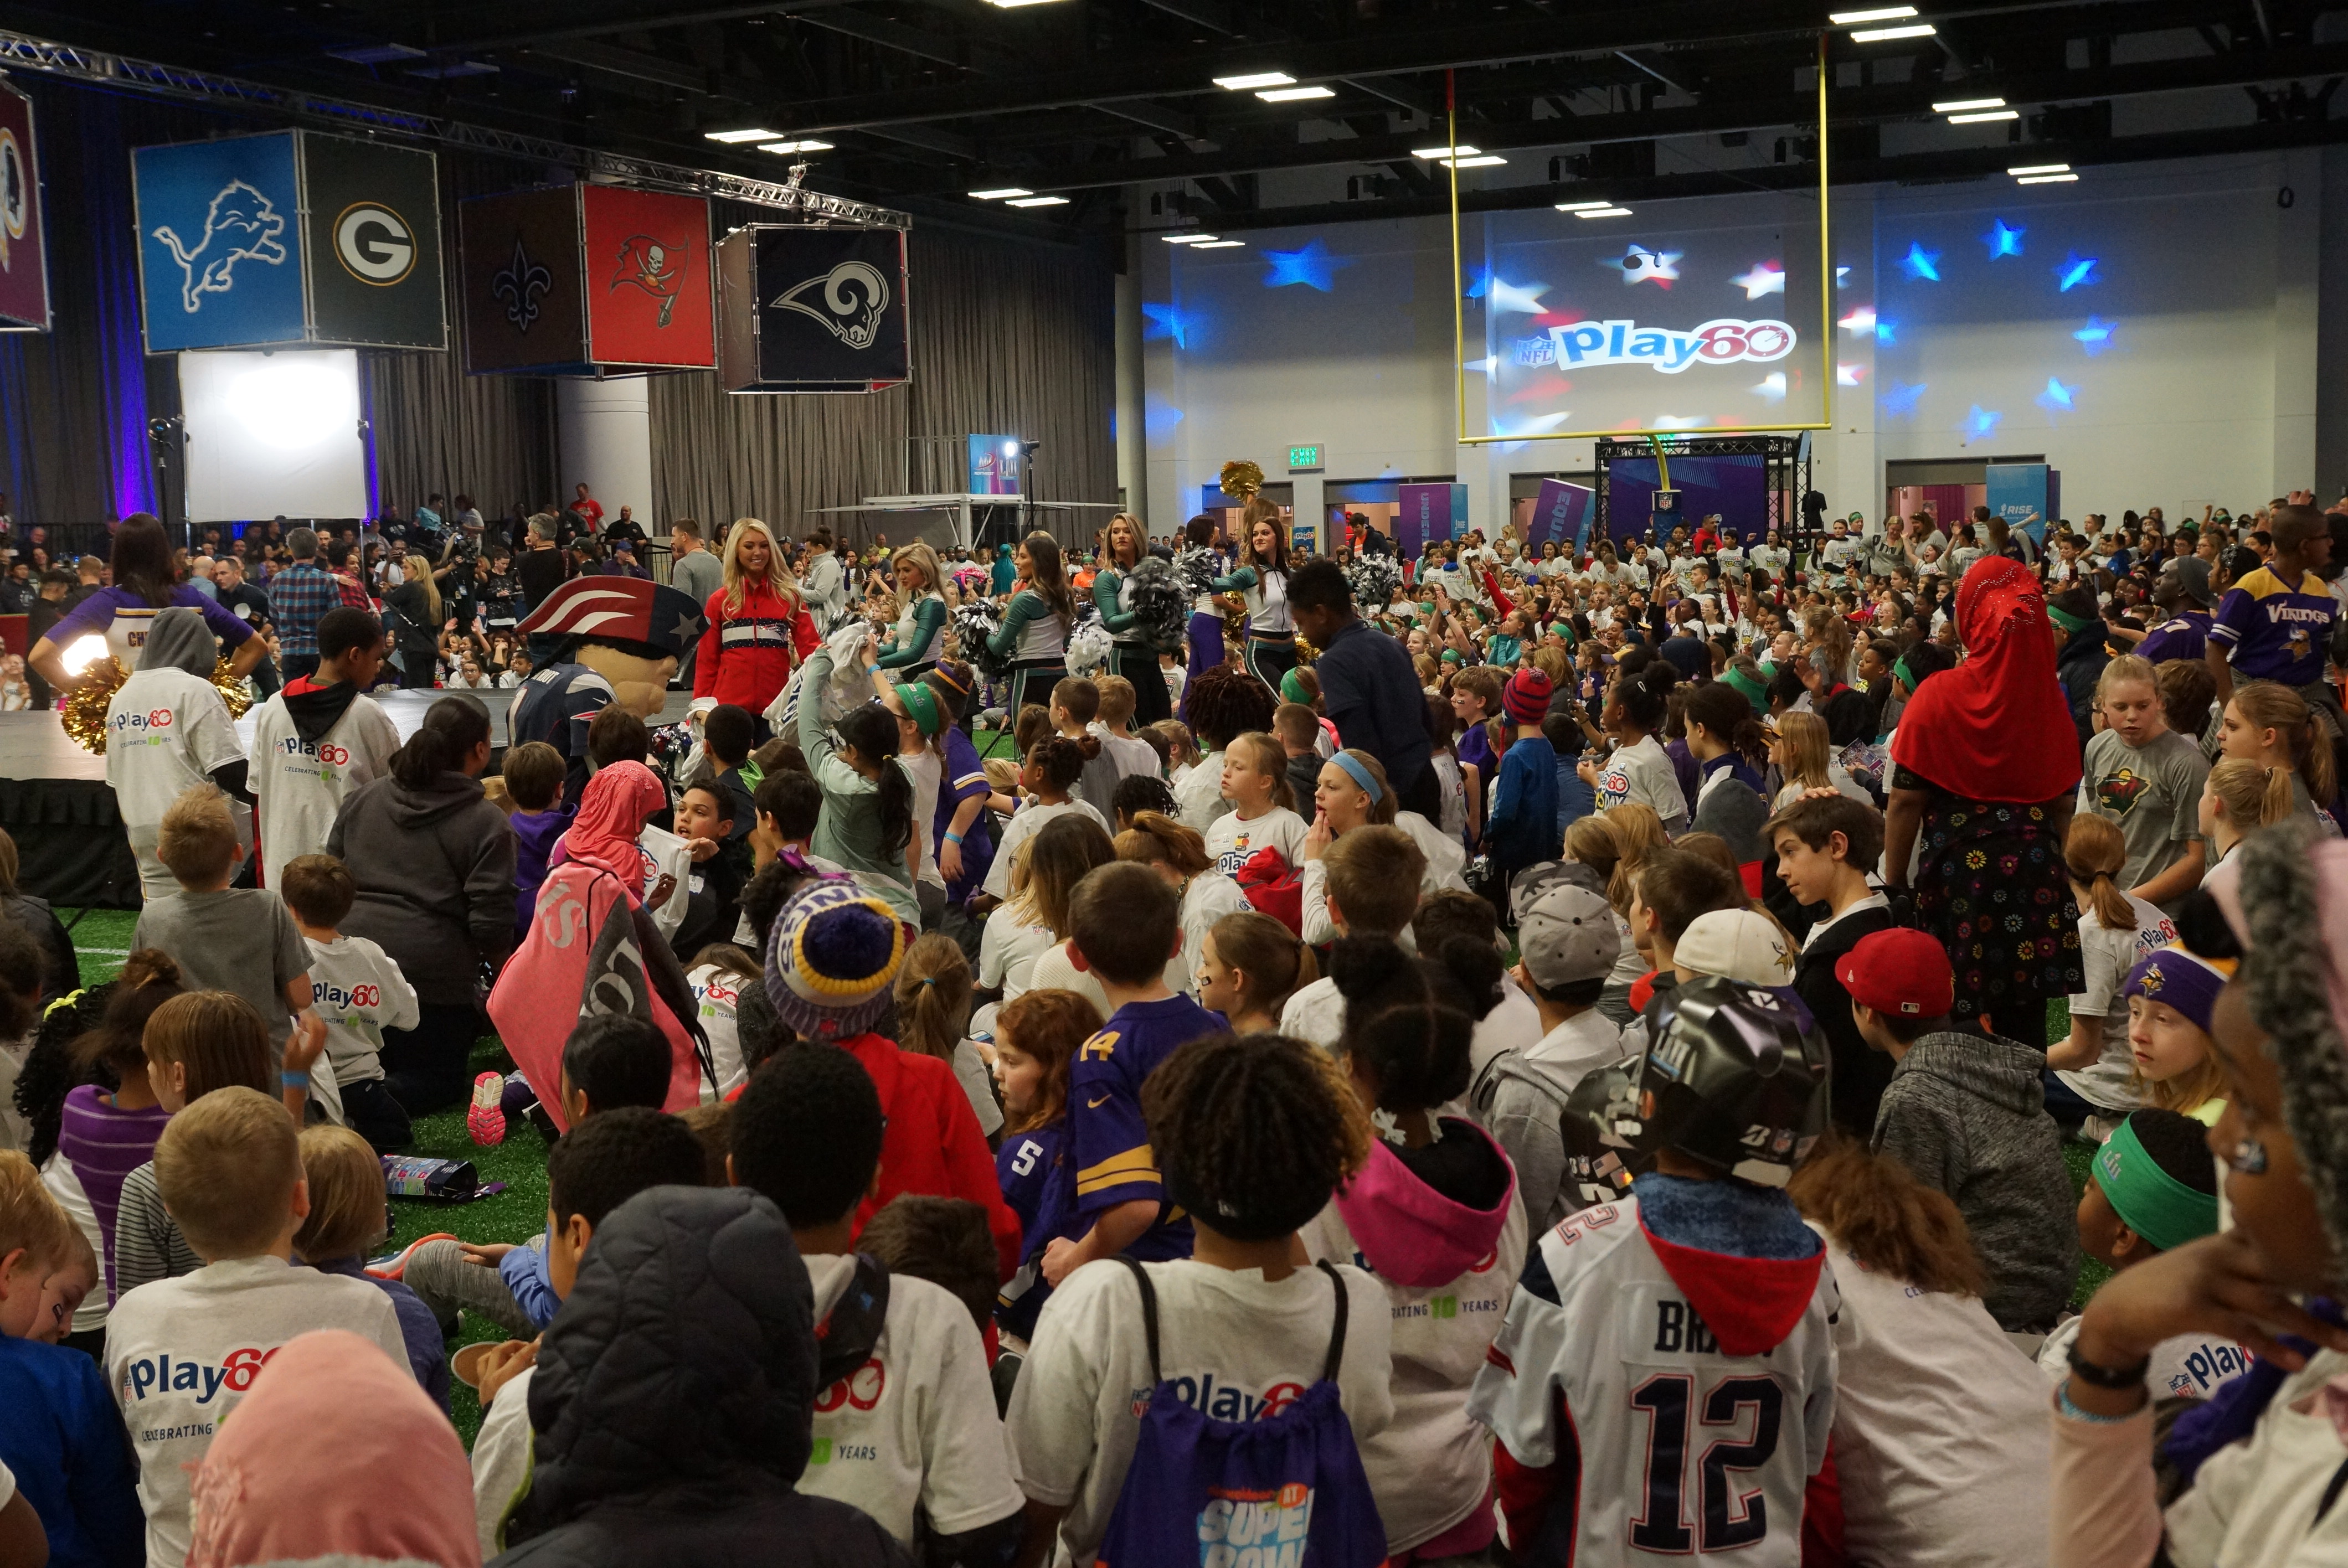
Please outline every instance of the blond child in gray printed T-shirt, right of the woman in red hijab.
[{"label": "blond child in gray printed T-shirt, right of the woman in red hijab", "polygon": [[2083,756],[2078,810],[2120,829],[2120,887],[2174,913],[2200,887],[2200,793],[2209,761],[2170,728],[2153,667],[2120,655],[2094,688],[2104,716]]}]

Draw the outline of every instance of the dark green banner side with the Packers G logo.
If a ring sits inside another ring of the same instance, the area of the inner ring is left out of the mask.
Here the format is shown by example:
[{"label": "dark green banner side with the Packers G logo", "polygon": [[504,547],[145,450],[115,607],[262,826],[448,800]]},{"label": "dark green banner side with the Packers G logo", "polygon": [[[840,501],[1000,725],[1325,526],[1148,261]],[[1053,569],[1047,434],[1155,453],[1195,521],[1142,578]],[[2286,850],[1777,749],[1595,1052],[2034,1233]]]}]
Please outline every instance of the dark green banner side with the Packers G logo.
[{"label": "dark green banner side with the Packers G logo", "polygon": [[315,338],[448,347],[432,155],[303,131],[303,202]]}]

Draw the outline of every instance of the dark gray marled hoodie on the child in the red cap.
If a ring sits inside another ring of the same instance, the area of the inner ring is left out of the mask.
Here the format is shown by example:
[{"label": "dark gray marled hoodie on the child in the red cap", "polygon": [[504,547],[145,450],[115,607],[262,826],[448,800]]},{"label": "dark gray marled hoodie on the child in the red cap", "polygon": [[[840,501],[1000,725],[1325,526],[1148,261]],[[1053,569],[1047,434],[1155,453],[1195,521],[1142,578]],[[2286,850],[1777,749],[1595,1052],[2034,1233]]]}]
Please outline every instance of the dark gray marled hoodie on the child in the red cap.
[{"label": "dark gray marled hoodie on the child in the red cap", "polygon": [[1876,1153],[1956,1199],[1989,1272],[2000,1329],[2052,1329],[2078,1265],[2078,1199],[2045,1110],[2045,1052],[1982,1035],[1923,1035],[1892,1068]]}]

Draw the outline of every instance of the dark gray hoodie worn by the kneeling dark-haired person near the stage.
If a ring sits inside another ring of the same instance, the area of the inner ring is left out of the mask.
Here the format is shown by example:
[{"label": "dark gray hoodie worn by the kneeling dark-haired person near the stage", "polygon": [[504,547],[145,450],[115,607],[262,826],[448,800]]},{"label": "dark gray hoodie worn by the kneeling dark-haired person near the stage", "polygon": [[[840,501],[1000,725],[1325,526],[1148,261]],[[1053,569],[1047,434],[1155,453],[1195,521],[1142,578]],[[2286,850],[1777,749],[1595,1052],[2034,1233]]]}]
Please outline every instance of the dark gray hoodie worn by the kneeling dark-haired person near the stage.
[{"label": "dark gray hoodie worn by the kneeling dark-haired person near the stage", "polygon": [[427,1007],[472,1005],[481,960],[514,944],[514,829],[481,782],[371,779],[343,800],[326,854],[359,883],[343,934],[380,944]]}]

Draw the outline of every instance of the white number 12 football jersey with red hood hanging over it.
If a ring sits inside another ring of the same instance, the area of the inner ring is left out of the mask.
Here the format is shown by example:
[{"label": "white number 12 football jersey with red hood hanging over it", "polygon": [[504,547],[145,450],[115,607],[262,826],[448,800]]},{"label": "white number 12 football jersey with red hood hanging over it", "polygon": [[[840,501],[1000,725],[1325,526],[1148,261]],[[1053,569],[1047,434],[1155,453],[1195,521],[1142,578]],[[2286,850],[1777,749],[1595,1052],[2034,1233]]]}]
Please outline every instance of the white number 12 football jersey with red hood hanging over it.
[{"label": "white number 12 football jersey with red hood hanging over it", "polygon": [[1679,1246],[1634,1197],[1550,1230],[1468,1397],[1500,1439],[1517,1559],[1796,1568],[1834,1427],[1836,1307],[1824,1249]]}]

